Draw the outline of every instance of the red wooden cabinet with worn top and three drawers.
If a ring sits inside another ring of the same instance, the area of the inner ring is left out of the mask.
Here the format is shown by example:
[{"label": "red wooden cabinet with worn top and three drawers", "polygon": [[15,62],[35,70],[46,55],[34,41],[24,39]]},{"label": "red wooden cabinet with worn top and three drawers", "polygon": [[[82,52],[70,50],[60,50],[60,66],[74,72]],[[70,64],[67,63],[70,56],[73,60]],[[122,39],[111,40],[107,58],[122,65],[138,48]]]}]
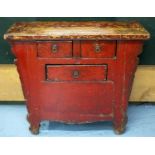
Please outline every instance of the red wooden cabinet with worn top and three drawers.
[{"label": "red wooden cabinet with worn top and three drawers", "polygon": [[43,120],[127,122],[128,98],[149,33],[136,22],[16,23],[4,35],[27,103],[32,133]]}]

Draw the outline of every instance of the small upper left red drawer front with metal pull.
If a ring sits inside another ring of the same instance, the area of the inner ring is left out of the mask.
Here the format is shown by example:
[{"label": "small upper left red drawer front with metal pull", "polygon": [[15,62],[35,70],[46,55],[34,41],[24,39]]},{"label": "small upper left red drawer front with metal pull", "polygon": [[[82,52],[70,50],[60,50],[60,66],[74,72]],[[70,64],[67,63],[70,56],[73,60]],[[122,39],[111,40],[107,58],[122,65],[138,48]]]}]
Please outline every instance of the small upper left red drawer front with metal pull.
[{"label": "small upper left red drawer front with metal pull", "polygon": [[72,41],[39,42],[38,56],[45,58],[72,57]]}]

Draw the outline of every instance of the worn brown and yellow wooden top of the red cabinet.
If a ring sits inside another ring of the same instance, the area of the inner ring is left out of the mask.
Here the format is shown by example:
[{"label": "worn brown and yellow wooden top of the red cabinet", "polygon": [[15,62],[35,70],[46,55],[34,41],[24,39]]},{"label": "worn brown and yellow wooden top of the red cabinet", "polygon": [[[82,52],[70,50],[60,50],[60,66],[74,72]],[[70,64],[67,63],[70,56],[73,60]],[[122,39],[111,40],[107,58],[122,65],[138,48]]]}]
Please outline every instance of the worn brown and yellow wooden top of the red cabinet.
[{"label": "worn brown and yellow wooden top of the red cabinet", "polygon": [[147,40],[150,34],[138,22],[18,22],[7,40]]}]

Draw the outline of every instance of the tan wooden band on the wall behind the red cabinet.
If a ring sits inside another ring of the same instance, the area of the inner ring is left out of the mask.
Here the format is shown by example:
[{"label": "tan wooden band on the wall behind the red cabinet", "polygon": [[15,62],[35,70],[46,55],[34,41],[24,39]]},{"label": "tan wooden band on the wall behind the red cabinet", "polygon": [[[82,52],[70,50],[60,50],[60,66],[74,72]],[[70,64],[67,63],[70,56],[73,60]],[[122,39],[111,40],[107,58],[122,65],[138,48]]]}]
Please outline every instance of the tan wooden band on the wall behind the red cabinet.
[{"label": "tan wooden band on the wall behind the red cabinet", "polygon": [[[24,101],[15,65],[0,65],[0,101]],[[155,66],[139,65],[130,95],[133,102],[155,102]]]}]

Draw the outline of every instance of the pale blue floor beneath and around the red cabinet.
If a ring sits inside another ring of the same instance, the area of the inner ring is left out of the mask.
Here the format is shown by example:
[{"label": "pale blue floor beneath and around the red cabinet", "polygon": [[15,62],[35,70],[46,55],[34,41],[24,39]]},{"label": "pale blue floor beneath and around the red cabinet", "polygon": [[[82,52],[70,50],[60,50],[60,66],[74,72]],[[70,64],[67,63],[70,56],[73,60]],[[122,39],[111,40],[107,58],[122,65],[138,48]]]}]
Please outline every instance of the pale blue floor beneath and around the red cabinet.
[{"label": "pale blue floor beneath and around the red cabinet", "polygon": [[[31,137],[25,105],[0,105],[0,136]],[[129,105],[128,124],[122,137],[155,136],[155,105]],[[83,125],[42,122],[37,137],[116,137],[110,122]],[[117,136],[118,137],[118,136]]]}]

